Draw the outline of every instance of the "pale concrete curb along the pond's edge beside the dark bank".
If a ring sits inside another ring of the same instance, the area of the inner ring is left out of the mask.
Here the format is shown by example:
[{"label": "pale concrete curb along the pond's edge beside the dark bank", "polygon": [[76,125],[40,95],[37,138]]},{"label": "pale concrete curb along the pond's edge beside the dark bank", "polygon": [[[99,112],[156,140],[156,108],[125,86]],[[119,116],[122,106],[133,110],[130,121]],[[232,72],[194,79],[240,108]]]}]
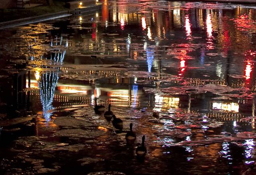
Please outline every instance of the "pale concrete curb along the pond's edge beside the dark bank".
[{"label": "pale concrete curb along the pond's edge beside the dark bank", "polygon": [[74,10],[67,10],[67,11],[62,11],[62,12],[57,12],[57,13],[52,13],[52,14],[45,14],[45,15],[40,15],[40,16],[33,16],[33,17],[29,17],[29,18],[22,18],[22,19],[18,19],[18,20],[1,22],[0,30],[6,29],[6,28],[17,27],[17,26],[23,26],[23,25],[27,25],[27,24],[33,24],[33,23],[37,23],[37,22],[53,20],[56,18],[64,18],[64,17],[72,16],[73,14],[91,14],[91,12],[94,12],[94,11],[100,10],[100,9],[102,9],[102,4],[96,4],[96,5],[87,6],[84,8],[79,8],[79,9],[74,9]]}]

